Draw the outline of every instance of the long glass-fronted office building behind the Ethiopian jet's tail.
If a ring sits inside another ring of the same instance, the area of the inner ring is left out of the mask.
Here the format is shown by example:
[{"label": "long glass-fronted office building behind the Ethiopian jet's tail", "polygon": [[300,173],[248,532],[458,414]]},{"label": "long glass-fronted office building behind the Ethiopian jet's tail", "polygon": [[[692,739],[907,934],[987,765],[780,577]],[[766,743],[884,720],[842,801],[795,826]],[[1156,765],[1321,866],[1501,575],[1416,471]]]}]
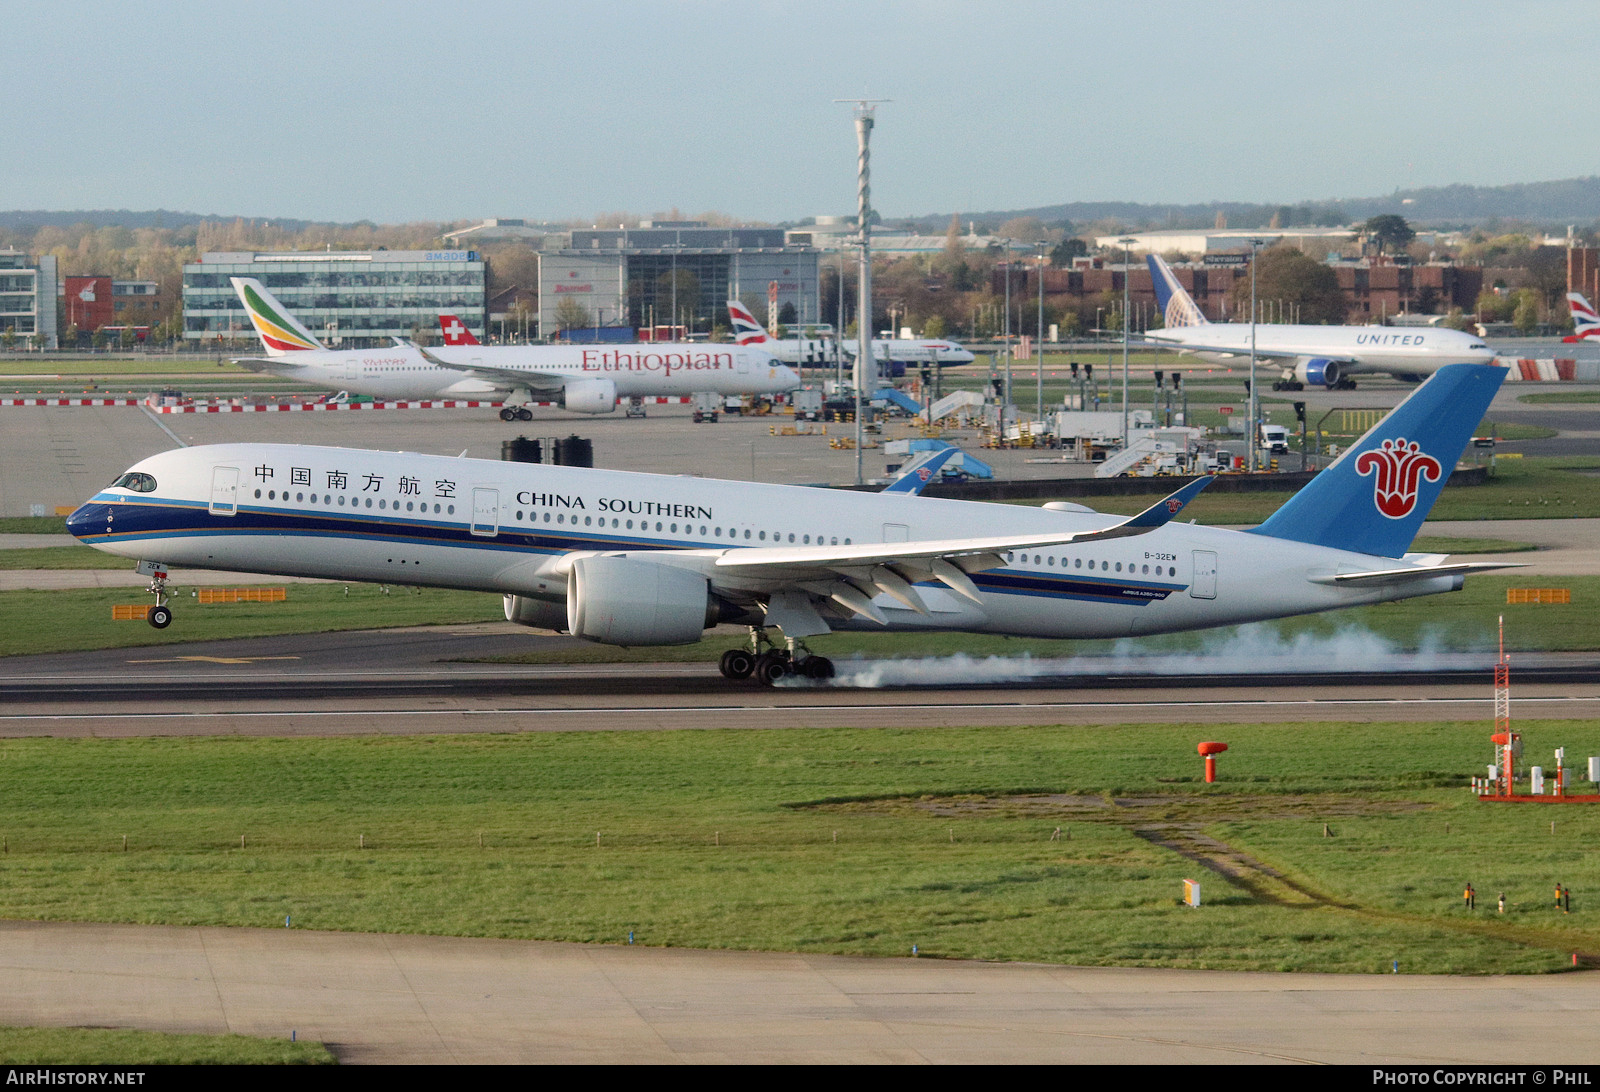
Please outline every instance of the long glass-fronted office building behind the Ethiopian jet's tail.
[{"label": "long glass-fronted office building behind the Ethiopian jet's tail", "polygon": [[184,339],[254,339],[230,277],[267,287],[330,346],[438,333],[440,312],[483,335],[486,264],[474,250],[218,251],[184,266]]}]

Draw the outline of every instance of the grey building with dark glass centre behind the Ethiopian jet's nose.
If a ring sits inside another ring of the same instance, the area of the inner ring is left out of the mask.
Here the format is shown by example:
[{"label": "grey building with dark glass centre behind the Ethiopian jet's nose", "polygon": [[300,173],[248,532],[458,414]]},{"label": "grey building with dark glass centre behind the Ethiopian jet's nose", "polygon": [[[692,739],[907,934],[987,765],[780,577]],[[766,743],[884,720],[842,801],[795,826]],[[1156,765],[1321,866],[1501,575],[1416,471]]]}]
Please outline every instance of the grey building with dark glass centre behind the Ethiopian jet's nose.
[{"label": "grey building with dark glass centre behind the Ethiopian jet's nose", "polygon": [[[638,227],[581,229],[539,251],[539,331],[549,339],[579,314],[598,327],[683,325],[709,333],[728,325],[728,299],[765,301],[819,322],[819,253],[790,247],[781,227],[712,227],[645,221]],[[571,301],[571,303],[563,303]],[[574,306],[576,304],[576,306]],[[674,315],[677,322],[674,322]]]}]

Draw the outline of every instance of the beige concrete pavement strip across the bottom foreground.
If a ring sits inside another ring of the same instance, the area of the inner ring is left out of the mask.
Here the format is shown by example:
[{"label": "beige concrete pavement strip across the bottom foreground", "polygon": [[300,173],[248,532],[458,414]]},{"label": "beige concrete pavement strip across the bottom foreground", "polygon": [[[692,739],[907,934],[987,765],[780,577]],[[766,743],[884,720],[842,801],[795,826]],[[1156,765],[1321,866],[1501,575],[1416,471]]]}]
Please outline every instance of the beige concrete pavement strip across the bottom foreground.
[{"label": "beige concrete pavement strip across the bottom foreground", "polygon": [[0,922],[0,1023],[318,1039],[355,1063],[1560,1065],[1600,974],[1302,975]]}]

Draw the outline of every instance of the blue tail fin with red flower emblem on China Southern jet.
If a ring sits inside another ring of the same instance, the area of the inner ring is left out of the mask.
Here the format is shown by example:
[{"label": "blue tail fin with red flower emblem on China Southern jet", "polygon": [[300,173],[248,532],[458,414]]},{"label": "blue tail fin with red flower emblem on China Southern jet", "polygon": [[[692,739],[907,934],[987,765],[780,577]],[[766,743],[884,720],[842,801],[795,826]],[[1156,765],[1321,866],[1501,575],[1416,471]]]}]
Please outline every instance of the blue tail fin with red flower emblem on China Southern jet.
[{"label": "blue tail fin with red flower emblem on China Southern jet", "polygon": [[1440,368],[1253,532],[1400,557],[1504,379],[1488,363]]}]

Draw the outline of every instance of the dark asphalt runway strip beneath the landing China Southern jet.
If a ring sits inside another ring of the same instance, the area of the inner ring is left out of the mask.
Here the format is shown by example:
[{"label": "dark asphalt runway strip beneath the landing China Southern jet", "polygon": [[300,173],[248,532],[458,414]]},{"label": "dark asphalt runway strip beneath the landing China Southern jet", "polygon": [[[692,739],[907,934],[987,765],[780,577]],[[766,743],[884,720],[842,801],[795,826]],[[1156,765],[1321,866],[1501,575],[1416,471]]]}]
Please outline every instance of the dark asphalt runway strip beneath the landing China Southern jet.
[{"label": "dark asphalt runway strip beneath the landing China Southern jet", "polygon": [[[13,656],[0,661],[0,738],[1493,716],[1493,663],[1472,653],[1400,661],[1386,672],[1312,672],[1280,663],[1248,674],[1197,656],[846,660],[837,685],[784,687],[728,682],[704,663],[474,661],[541,644],[570,639],[475,624]],[[1174,661],[1192,668],[1181,671]],[[1523,716],[1586,717],[1600,703],[1594,653],[1523,655],[1517,663]]]}]

